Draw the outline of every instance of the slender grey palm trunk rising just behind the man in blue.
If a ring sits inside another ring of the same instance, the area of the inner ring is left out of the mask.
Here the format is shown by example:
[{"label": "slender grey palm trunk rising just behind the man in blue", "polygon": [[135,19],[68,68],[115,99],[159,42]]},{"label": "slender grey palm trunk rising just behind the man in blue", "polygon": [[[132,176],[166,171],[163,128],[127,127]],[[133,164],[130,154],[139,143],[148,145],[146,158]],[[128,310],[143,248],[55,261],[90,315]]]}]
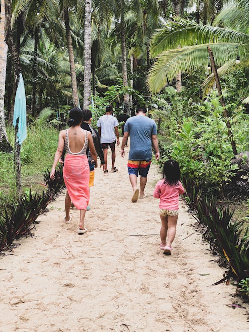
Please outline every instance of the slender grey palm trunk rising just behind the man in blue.
[{"label": "slender grey palm trunk rising just behind the man in blue", "polygon": [[[123,84],[125,87],[127,87],[128,86],[128,75],[127,75],[127,60],[126,60],[125,23],[124,23],[123,14],[121,14],[120,30],[121,30],[122,76],[123,76]],[[124,95],[124,107],[127,110],[128,114],[130,114],[130,104],[129,104],[129,95],[128,94]]]}]

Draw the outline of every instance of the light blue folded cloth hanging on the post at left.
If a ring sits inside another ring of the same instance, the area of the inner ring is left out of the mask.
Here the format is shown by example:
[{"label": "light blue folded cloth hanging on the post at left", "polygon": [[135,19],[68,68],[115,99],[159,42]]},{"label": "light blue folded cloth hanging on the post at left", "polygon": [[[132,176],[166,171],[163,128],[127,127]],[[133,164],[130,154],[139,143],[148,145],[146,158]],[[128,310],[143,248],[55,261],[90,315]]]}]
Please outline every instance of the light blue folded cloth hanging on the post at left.
[{"label": "light blue folded cloth hanging on the post at left", "polygon": [[18,88],[15,95],[15,106],[14,106],[14,120],[13,125],[16,127],[17,119],[18,122],[18,131],[17,131],[17,140],[16,142],[21,145],[23,141],[27,138],[27,107],[26,107],[26,94],[24,88],[23,77],[20,74],[20,80]]}]

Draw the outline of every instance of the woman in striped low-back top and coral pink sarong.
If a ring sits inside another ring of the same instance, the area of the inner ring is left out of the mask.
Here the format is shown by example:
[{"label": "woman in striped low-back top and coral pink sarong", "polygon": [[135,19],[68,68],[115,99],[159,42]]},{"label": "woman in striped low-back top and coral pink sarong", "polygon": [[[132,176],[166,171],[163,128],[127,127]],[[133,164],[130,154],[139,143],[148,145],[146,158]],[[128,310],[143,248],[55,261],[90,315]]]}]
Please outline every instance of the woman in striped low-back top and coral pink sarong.
[{"label": "woman in striped low-back top and coral pink sarong", "polygon": [[55,167],[61,157],[63,148],[66,149],[66,158],[63,168],[63,178],[67,188],[65,197],[64,223],[70,223],[72,216],[69,215],[71,202],[76,209],[80,210],[79,234],[84,234],[85,213],[89,202],[89,164],[86,156],[89,147],[95,167],[97,167],[97,153],[94,148],[92,134],[81,129],[83,113],[75,107],[69,112],[68,123],[71,128],[62,130],[59,134],[58,147],[54,156],[54,163],[50,178],[54,179]]}]

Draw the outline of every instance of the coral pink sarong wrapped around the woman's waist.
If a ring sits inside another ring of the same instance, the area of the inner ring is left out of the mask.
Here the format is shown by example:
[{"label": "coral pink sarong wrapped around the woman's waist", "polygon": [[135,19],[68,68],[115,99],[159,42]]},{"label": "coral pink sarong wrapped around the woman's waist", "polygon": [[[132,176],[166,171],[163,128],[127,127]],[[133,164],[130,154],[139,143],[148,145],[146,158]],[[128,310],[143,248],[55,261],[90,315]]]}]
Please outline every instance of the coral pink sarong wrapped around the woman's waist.
[{"label": "coral pink sarong wrapped around the woman's waist", "polygon": [[76,209],[86,210],[90,196],[87,156],[67,154],[63,167],[63,178]]}]

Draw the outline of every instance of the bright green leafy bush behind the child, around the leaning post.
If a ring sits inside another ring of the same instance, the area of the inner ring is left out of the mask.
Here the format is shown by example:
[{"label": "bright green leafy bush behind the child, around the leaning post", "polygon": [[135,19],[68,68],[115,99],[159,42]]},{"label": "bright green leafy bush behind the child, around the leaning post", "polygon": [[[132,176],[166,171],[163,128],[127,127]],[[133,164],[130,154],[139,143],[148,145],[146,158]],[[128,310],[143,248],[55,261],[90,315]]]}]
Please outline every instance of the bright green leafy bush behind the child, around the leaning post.
[{"label": "bright green leafy bush behind the child, around the leaning post", "polygon": [[[179,162],[183,177],[190,177],[204,191],[220,191],[228,181],[231,181],[236,165],[231,165],[233,158],[228,129],[223,118],[223,108],[219,99],[211,96],[203,105],[196,106],[195,117],[184,116],[173,105],[168,105],[168,111],[153,111],[152,113],[162,119],[161,128],[168,141],[164,147],[164,154]],[[164,113],[164,116],[163,116]],[[247,129],[245,114],[238,112],[231,119],[232,131],[238,150],[247,148]],[[241,123],[242,127],[238,126]],[[233,130],[236,124],[236,130]],[[160,141],[164,137],[159,137]]]}]

